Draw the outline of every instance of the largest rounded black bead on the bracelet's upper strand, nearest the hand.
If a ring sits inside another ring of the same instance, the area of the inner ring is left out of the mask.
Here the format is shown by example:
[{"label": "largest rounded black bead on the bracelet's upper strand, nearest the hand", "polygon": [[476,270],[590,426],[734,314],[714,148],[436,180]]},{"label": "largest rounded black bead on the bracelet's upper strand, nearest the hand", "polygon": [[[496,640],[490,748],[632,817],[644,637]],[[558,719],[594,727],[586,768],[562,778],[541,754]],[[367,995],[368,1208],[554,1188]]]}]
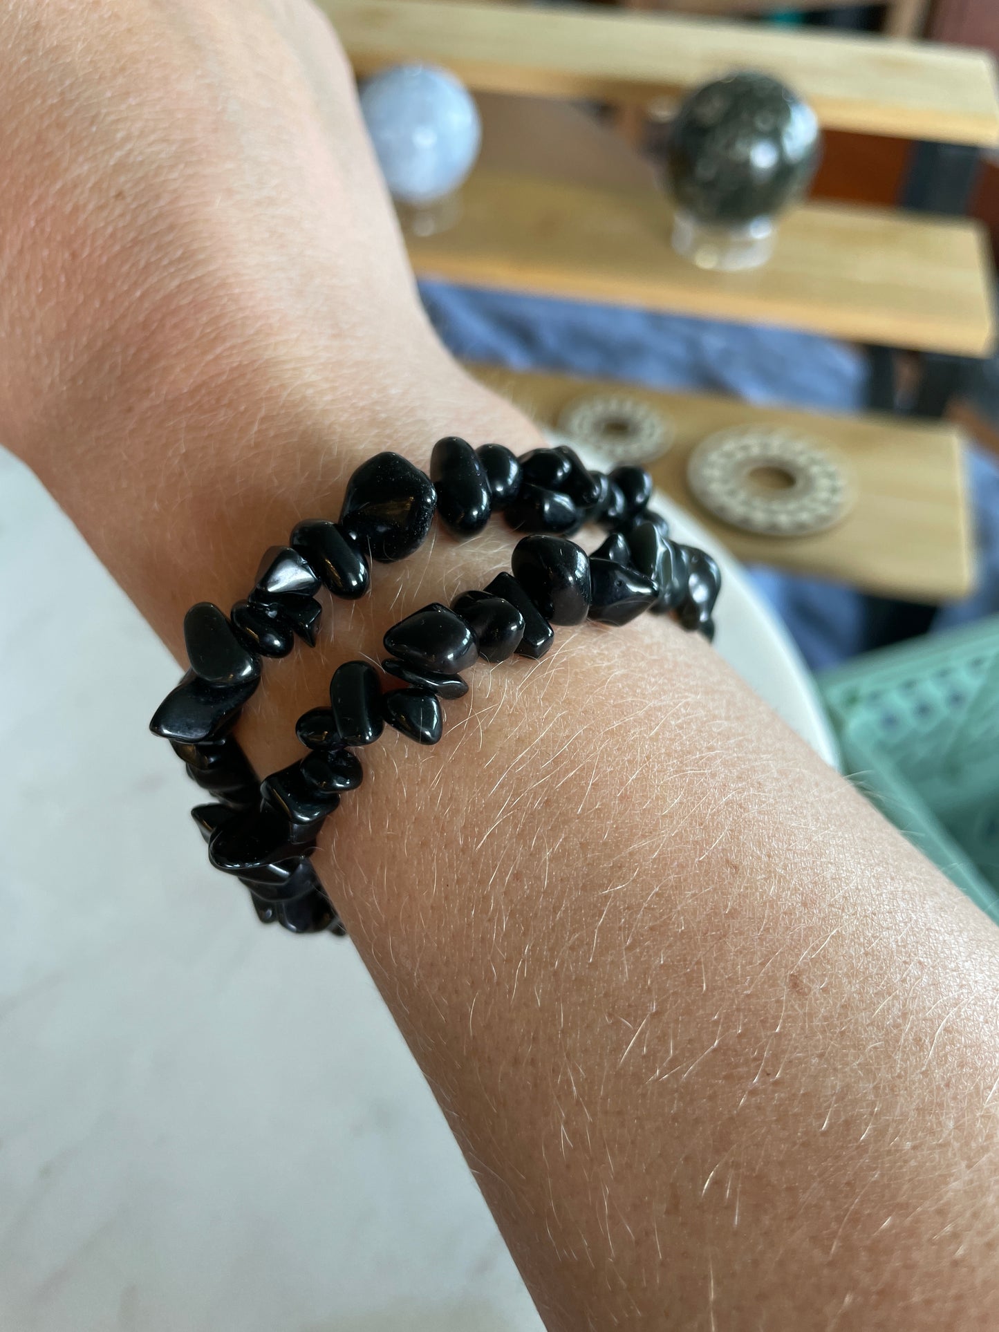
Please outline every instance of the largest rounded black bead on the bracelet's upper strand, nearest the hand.
[{"label": "largest rounded black bead on the bracelet's upper strand, nearest the hand", "polygon": [[428,476],[398,453],[378,453],[348,481],[340,526],[373,559],[392,563],[422,545],[436,505]]}]

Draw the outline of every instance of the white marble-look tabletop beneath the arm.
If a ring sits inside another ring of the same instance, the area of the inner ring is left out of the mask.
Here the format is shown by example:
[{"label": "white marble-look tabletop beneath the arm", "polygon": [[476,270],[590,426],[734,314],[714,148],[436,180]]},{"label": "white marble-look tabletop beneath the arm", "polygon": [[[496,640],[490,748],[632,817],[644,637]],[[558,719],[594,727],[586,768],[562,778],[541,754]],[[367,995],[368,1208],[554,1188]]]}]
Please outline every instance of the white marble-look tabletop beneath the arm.
[{"label": "white marble-look tabletop beneath the arm", "polygon": [[[209,870],[147,730],[176,667],[3,453],[0,587],[0,1328],[538,1332],[352,947]],[[719,646],[823,749],[726,599]]]}]

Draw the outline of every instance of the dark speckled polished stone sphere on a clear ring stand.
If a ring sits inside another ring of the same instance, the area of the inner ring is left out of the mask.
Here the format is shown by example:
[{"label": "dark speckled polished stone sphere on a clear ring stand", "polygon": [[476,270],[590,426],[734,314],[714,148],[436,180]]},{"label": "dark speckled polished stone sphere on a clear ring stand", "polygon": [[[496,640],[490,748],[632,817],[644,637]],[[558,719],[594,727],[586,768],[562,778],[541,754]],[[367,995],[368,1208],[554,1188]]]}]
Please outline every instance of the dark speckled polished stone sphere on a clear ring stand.
[{"label": "dark speckled polished stone sphere on a clear ring stand", "polygon": [[769,75],[693,92],[673,123],[666,176],[678,208],[710,226],[773,217],[809,188],[822,136],[815,113]]}]

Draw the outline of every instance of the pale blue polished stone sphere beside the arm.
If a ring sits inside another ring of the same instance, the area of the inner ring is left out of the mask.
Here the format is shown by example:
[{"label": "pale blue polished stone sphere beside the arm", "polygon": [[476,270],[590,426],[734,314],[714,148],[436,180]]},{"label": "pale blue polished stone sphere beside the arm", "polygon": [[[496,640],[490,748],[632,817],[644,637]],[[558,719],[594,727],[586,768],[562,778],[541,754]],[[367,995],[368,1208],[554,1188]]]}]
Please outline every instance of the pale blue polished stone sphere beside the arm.
[{"label": "pale blue polished stone sphere beside the arm", "polygon": [[450,194],[478,157],[478,109],[446,69],[385,69],[364,85],[361,112],[392,197],[402,204]]}]

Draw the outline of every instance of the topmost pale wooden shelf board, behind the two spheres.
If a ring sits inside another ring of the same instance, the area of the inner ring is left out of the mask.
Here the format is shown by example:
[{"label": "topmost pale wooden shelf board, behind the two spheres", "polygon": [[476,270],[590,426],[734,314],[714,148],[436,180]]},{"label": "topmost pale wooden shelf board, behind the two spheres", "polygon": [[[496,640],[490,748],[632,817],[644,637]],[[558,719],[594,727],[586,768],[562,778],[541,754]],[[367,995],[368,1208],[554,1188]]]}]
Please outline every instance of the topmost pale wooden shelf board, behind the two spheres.
[{"label": "topmost pale wooden shelf board, behind the two spheres", "polygon": [[984,52],[671,15],[454,0],[320,5],[361,75],[425,60],[476,89],[647,101],[754,68],[789,83],[832,129],[999,143],[995,63]]}]

